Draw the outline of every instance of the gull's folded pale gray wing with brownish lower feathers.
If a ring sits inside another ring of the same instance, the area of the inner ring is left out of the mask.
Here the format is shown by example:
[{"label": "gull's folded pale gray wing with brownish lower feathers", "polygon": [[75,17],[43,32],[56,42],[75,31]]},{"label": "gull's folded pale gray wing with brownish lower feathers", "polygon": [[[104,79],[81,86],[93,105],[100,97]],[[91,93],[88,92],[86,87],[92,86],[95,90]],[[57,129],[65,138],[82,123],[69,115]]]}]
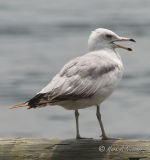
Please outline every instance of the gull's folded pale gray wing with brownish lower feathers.
[{"label": "gull's folded pale gray wing with brownish lower feathers", "polygon": [[66,64],[40,93],[49,96],[49,103],[91,97],[110,83],[116,67],[108,57],[90,54],[77,57]]}]

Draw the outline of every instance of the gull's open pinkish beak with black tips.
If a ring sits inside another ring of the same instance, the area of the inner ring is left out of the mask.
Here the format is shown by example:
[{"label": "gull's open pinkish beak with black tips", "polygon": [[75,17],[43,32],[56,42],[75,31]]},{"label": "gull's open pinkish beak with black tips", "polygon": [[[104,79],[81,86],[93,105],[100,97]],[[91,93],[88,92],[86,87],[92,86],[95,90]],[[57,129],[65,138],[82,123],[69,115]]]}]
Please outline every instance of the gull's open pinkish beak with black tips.
[{"label": "gull's open pinkish beak with black tips", "polygon": [[112,42],[112,44],[113,44],[116,48],[123,48],[123,49],[126,49],[126,50],[128,50],[128,51],[133,51],[133,50],[132,50],[132,48],[124,47],[124,46],[121,46],[121,45],[119,45],[119,44],[114,43],[114,42],[117,42],[117,41],[131,41],[131,42],[136,42],[136,41],[135,41],[134,39],[132,39],[132,38],[124,38],[124,37],[119,38],[118,40],[115,40],[115,41]]}]

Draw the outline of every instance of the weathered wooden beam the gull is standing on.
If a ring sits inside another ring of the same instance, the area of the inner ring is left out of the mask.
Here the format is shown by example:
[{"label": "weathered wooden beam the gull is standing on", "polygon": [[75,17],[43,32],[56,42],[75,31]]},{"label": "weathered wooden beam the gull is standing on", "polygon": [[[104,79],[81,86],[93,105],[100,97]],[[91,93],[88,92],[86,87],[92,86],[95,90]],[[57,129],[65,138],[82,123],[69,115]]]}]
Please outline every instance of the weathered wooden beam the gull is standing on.
[{"label": "weathered wooden beam the gull is standing on", "polygon": [[150,141],[1,138],[0,160],[150,160]]}]

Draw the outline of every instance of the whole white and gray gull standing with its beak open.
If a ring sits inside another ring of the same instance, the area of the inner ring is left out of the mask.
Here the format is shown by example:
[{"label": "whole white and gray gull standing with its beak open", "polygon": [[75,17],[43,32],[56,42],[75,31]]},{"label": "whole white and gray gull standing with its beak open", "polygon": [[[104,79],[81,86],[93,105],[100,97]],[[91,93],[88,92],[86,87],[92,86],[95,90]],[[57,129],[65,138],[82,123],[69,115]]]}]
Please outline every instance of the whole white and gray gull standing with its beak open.
[{"label": "whole white and gray gull standing with its beak open", "polygon": [[100,114],[100,104],[108,98],[122,78],[124,67],[116,48],[132,51],[131,48],[116,44],[119,41],[132,41],[120,37],[111,30],[98,28],[91,32],[88,40],[88,53],[69,61],[50,83],[30,100],[10,107],[41,108],[59,105],[74,110],[76,139],[79,133],[79,109],[96,106],[96,116],[101,128],[102,140],[107,137]]}]

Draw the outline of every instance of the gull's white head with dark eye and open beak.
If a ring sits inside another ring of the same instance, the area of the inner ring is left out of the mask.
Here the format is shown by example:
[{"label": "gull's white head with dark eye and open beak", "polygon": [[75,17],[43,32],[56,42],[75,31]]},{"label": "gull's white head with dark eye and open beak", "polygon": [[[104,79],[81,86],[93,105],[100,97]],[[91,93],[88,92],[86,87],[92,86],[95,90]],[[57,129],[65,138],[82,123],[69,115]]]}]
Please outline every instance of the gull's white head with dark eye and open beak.
[{"label": "gull's white head with dark eye and open beak", "polygon": [[98,28],[92,31],[89,40],[88,40],[88,47],[89,51],[96,51],[100,49],[116,49],[116,48],[123,48],[128,51],[132,51],[131,48],[124,47],[121,45],[116,44],[115,42],[119,41],[132,41],[136,42],[132,38],[125,38],[120,37],[116,33],[112,32],[111,30]]}]

